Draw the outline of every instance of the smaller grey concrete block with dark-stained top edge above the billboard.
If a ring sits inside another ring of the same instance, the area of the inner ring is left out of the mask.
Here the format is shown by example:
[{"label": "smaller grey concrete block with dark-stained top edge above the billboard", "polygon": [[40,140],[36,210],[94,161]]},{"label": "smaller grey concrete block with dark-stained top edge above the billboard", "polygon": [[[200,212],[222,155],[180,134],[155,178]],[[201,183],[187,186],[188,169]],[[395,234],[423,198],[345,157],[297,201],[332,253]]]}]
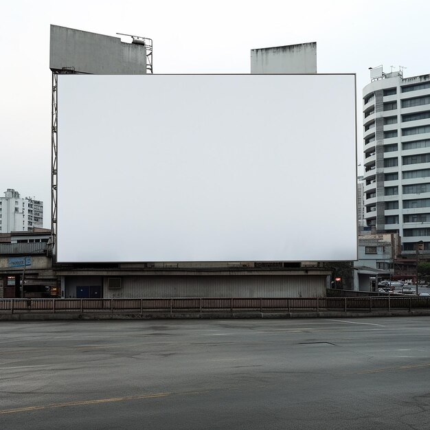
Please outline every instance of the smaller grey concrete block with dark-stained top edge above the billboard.
[{"label": "smaller grey concrete block with dark-stained top edge above the billboard", "polygon": [[317,43],[251,49],[251,73],[317,73]]}]

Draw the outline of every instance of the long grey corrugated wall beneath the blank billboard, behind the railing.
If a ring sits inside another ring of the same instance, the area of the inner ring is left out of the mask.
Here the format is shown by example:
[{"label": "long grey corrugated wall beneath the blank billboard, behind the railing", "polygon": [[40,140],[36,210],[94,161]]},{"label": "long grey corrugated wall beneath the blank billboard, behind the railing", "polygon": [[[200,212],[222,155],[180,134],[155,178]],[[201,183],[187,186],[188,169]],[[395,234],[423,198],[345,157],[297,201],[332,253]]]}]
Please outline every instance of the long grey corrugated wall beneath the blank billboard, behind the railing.
[{"label": "long grey corrugated wall beneath the blank billboard, behind the railing", "polygon": [[325,275],[122,276],[103,297],[325,297]]}]

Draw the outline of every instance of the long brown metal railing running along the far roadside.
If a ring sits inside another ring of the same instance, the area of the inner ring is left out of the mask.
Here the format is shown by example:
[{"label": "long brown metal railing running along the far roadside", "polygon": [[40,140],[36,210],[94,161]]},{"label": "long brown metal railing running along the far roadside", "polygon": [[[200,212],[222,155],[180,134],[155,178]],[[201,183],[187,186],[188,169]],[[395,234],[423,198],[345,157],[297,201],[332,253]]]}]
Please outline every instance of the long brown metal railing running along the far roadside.
[{"label": "long brown metal railing running along the far roadside", "polygon": [[324,312],[430,309],[430,297],[0,299],[1,313]]}]

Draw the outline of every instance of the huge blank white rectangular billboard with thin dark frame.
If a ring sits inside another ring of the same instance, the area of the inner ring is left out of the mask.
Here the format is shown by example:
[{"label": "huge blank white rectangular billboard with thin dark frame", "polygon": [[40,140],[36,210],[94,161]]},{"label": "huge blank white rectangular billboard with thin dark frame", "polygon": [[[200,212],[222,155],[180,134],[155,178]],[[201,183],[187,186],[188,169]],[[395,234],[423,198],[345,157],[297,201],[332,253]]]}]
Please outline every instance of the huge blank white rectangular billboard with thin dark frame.
[{"label": "huge blank white rectangular billboard with thin dark frame", "polygon": [[355,76],[58,76],[58,262],[357,258]]}]

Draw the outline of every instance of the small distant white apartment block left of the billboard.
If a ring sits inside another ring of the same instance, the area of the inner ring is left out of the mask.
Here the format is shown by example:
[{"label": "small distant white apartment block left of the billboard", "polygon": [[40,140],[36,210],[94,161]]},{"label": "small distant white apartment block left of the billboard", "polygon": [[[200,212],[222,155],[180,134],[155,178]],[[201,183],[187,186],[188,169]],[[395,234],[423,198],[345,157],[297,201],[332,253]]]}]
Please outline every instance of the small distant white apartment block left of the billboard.
[{"label": "small distant white apartment block left of the billboard", "polygon": [[0,197],[0,233],[27,231],[43,227],[43,202],[30,197],[21,199],[19,192],[8,188]]}]

